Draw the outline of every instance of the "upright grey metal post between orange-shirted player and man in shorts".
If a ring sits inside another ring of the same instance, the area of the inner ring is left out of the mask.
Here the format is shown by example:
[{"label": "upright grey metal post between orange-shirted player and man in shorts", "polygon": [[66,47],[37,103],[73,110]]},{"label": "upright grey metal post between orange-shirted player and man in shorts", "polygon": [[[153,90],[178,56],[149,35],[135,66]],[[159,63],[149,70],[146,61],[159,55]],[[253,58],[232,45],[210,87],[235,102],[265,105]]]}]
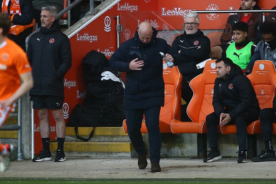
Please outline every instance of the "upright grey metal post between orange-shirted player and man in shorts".
[{"label": "upright grey metal post between orange-shirted player and man in shorts", "polygon": [[17,131],[17,161],[23,160],[22,157],[22,102],[18,99],[18,126],[21,128]]}]

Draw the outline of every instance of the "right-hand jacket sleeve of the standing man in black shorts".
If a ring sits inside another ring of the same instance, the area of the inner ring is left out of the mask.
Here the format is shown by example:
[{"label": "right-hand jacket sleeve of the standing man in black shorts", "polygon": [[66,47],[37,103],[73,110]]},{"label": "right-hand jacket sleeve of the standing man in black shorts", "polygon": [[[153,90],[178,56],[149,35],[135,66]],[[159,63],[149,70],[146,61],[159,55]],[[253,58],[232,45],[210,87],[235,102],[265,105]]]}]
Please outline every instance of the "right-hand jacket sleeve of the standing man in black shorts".
[{"label": "right-hand jacket sleeve of the standing man in black shorts", "polygon": [[60,45],[61,63],[56,69],[57,78],[63,78],[72,66],[71,45],[67,36],[64,36]]}]

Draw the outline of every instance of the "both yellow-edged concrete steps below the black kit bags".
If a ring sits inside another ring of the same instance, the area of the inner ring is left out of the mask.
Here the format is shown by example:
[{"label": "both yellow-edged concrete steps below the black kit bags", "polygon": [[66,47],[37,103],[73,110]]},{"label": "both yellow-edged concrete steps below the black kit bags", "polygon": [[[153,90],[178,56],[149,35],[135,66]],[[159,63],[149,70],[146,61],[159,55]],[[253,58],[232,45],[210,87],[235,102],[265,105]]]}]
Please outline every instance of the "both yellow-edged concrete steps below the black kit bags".
[{"label": "both yellow-edged concrete steps below the black kit bags", "polygon": [[[79,127],[78,135],[88,138],[93,127]],[[50,150],[57,150],[57,141],[51,141]],[[68,158],[136,157],[137,154],[122,127],[95,127],[87,141],[76,138],[74,127],[66,127],[64,152]],[[55,152],[52,152],[55,155]]]}]

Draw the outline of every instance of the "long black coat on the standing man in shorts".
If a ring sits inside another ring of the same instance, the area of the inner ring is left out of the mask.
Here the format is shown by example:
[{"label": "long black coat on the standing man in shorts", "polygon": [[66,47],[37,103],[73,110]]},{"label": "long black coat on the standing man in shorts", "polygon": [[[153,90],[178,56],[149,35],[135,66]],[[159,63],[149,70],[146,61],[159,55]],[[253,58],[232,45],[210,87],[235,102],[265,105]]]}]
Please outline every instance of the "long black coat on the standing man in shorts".
[{"label": "long black coat on the standing man in shorts", "polygon": [[41,27],[40,32],[30,37],[27,56],[34,78],[30,96],[63,97],[63,78],[72,65],[72,53],[70,41],[57,21],[49,29]]}]

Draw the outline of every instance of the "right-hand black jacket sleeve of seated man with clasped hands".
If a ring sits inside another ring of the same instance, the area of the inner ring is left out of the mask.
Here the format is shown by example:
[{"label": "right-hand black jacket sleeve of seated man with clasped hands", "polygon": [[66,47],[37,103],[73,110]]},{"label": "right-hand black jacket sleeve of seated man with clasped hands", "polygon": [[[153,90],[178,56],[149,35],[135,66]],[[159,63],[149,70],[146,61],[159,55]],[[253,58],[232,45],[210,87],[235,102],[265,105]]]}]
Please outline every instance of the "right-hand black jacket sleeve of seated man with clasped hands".
[{"label": "right-hand black jacket sleeve of seated man with clasped hands", "polygon": [[251,106],[252,96],[255,95],[252,84],[246,76],[241,76],[236,81],[235,86],[237,87],[237,90],[238,90],[240,104],[237,105],[235,109],[229,112],[229,115],[232,119],[236,118],[239,114],[246,112],[248,107]]}]

